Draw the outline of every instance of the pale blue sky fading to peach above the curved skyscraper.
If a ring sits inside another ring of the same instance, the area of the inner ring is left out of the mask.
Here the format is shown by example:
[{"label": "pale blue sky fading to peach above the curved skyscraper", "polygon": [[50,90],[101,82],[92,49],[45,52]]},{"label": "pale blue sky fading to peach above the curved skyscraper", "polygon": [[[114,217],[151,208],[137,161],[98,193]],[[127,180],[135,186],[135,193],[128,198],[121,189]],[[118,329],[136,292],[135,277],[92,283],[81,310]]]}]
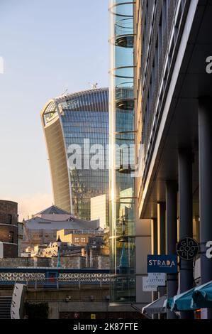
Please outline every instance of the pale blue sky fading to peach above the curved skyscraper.
[{"label": "pale blue sky fading to peach above the curved skyscraper", "polygon": [[0,0],[0,199],[23,217],[52,205],[40,111],[108,86],[108,0]]}]

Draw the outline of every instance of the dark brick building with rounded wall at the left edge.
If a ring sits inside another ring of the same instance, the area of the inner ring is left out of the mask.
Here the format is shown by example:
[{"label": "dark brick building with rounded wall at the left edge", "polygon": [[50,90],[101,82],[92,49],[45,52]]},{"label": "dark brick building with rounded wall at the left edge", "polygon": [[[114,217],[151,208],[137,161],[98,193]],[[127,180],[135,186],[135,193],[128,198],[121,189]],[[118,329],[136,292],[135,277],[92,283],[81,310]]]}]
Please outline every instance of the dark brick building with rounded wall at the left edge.
[{"label": "dark brick building with rounded wall at the left edge", "polygon": [[18,256],[18,203],[0,200],[0,256]]}]

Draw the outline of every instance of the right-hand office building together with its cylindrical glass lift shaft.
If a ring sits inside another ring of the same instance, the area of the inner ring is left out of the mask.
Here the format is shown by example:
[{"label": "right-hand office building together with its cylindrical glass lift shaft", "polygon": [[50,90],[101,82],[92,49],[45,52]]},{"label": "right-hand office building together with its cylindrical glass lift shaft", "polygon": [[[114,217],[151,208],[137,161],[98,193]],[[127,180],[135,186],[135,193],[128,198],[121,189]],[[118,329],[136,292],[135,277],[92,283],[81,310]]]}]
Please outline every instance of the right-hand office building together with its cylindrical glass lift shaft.
[{"label": "right-hand office building together with its cylindrical glass lift shaft", "polygon": [[212,4],[111,0],[109,11],[111,302],[143,304],[147,254],[177,254],[179,239],[196,237],[200,261],[180,259],[159,296],[193,288],[194,262],[201,283],[212,280]]}]

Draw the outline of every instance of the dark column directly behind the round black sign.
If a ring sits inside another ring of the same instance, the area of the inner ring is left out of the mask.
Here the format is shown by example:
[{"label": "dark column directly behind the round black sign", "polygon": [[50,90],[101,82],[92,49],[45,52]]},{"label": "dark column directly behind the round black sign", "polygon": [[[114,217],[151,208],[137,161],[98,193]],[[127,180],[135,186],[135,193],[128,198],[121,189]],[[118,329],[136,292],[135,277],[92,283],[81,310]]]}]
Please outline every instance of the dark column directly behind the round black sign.
[{"label": "dark column directly behind the round black sign", "polygon": [[[192,151],[179,149],[179,239],[193,237]],[[179,289],[193,288],[193,260],[180,259]],[[194,318],[193,311],[181,312],[181,318]]]}]

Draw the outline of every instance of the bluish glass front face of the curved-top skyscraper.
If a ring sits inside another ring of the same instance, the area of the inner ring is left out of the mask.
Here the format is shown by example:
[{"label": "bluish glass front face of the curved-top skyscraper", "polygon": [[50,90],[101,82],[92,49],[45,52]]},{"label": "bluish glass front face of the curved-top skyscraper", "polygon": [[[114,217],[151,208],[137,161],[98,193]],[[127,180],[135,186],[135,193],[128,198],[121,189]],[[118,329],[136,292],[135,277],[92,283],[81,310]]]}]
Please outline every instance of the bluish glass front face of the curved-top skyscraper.
[{"label": "bluish glass front face of the curved-top skyscraper", "polygon": [[[57,114],[56,117],[55,114]],[[108,89],[94,89],[58,97],[45,108],[43,119],[44,126],[48,126],[47,123],[51,126],[56,119],[60,119],[67,161],[73,153],[70,153],[69,148],[76,145],[74,153],[76,156],[79,155],[82,163],[80,168],[73,168],[68,164],[70,207],[72,213],[77,217],[90,220],[90,199],[108,193],[107,166],[96,169],[85,166],[89,161],[88,158],[87,163],[85,163],[85,158],[87,158],[87,154],[90,158],[92,157],[90,149],[96,144],[102,146],[102,150],[100,149],[98,154],[106,165]],[[84,145],[85,140],[89,147]],[[56,151],[57,148],[55,148]],[[53,179],[52,181],[54,183]],[[57,205],[57,203],[55,204]]]}]

